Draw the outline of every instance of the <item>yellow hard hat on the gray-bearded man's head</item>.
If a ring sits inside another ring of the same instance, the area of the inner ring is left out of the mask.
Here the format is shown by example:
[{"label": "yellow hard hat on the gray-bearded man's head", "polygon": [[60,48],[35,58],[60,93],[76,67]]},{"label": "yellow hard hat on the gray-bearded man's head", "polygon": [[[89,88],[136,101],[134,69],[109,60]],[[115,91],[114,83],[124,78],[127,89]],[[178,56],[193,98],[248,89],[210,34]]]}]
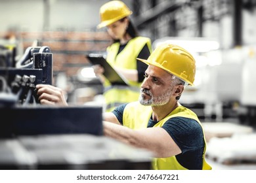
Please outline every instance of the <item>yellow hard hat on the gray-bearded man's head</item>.
[{"label": "yellow hard hat on the gray-bearded man's head", "polygon": [[148,59],[140,59],[148,65],[155,65],[194,86],[196,61],[193,56],[180,46],[163,43],[158,46]]}]

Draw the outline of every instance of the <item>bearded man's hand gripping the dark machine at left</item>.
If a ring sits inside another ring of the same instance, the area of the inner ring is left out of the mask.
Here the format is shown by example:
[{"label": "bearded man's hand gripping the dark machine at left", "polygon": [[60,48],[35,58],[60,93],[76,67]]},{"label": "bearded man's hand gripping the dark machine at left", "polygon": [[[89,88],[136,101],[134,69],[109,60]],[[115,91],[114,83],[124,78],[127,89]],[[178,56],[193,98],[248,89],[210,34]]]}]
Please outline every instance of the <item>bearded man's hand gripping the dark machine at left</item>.
[{"label": "bearded man's hand gripping the dark machine at left", "polygon": [[65,92],[60,88],[49,84],[37,84],[35,88],[38,90],[37,95],[39,95],[38,99],[41,104],[68,106]]}]

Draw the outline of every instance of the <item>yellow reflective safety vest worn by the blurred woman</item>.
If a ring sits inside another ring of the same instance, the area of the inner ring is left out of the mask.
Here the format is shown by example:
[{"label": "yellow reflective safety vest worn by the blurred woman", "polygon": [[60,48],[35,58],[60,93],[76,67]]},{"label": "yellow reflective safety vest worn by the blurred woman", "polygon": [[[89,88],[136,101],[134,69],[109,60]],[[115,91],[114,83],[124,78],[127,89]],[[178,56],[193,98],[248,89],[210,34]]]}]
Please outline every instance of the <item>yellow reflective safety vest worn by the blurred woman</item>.
[{"label": "yellow reflective safety vest worn by the blurred woman", "polygon": [[[119,50],[119,42],[114,42],[107,48],[106,60],[110,65],[122,69],[137,69],[137,57],[142,48],[147,44],[150,53],[152,52],[151,41],[148,37],[135,37],[127,42],[123,50]],[[104,83],[104,98],[106,103],[106,112],[112,111],[117,106],[131,101],[137,101],[140,94],[141,82],[128,80],[129,86],[115,85],[112,86],[106,79]]]}]

